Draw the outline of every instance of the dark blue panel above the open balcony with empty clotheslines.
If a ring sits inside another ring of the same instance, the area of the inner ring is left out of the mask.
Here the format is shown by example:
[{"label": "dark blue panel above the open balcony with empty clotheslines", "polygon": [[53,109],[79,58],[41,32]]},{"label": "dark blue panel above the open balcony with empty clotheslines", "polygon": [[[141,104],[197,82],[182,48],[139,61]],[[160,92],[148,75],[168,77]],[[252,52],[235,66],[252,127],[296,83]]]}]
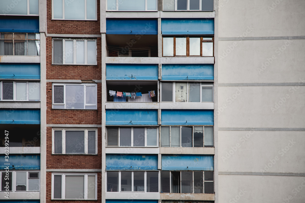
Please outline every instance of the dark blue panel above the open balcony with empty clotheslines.
[{"label": "dark blue panel above the open balcony with empty clotheslines", "polygon": [[[106,19],[106,34],[158,34],[157,19]],[[136,36],[137,37],[137,36]]]}]

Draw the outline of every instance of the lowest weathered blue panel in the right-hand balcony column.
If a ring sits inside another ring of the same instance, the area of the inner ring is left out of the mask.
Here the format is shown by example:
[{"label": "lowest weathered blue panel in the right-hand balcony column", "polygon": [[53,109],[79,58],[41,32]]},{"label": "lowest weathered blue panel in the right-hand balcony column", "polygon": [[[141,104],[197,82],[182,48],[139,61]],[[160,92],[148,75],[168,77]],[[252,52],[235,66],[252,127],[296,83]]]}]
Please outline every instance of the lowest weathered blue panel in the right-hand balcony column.
[{"label": "lowest weathered blue panel in the right-hand balcony column", "polygon": [[162,155],[162,170],[214,170],[213,155]]}]

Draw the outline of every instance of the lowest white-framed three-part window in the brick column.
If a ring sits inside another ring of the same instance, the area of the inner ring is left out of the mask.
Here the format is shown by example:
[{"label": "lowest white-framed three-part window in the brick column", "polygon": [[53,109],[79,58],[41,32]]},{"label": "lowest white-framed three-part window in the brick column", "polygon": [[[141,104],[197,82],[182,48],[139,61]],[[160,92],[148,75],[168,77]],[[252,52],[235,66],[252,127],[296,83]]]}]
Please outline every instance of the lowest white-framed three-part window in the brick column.
[{"label": "lowest white-framed three-part window in the brick column", "polygon": [[97,199],[96,173],[52,173],[52,199]]}]

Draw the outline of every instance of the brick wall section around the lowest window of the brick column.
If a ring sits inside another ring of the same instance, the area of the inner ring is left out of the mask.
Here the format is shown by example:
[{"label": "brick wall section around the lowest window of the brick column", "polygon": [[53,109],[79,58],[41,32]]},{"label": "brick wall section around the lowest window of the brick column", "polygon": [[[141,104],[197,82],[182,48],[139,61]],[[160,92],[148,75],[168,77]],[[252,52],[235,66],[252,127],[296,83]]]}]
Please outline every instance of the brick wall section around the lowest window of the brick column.
[{"label": "brick wall section around the lowest window of the brick column", "polygon": [[51,200],[52,198],[52,172],[47,172],[46,177],[46,202],[48,203],[62,203],[62,202],[82,202],[82,203],[92,203],[102,201],[102,173],[97,173],[97,200]]}]

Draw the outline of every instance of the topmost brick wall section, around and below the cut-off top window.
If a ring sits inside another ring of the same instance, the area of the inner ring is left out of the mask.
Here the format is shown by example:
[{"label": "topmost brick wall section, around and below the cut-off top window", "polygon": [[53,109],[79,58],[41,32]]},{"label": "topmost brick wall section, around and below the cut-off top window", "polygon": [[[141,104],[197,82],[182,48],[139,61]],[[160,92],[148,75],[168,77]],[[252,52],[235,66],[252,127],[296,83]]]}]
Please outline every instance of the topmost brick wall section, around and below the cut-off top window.
[{"label": "topmost brick wall section, around and below the cut-off top window", "polygon": [[48,33],[101,34],[99,5],[97,0],[97,20],[52,20],[52,0],[47,0]]}]

